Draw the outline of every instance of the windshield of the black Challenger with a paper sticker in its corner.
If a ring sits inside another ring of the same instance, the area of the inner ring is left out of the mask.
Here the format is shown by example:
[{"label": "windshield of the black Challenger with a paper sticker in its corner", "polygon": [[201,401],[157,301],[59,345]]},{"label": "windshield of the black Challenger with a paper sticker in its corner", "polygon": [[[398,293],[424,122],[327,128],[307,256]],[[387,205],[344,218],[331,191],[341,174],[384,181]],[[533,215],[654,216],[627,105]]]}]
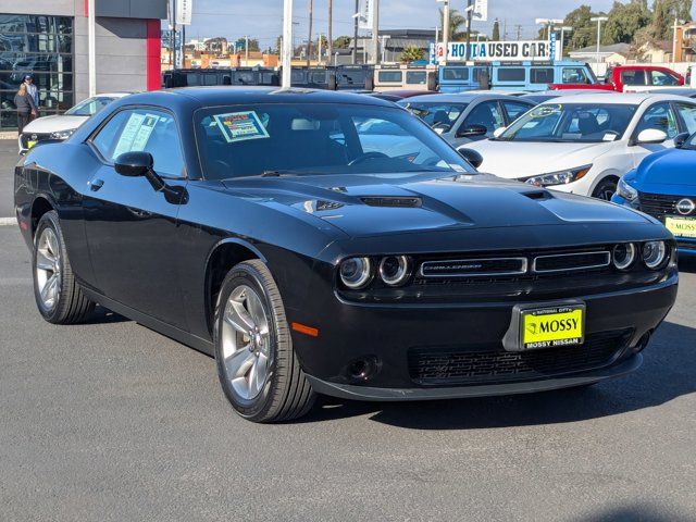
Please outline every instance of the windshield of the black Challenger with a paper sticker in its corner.
[{"label": "windshield of the black Challenger with a paper sticker in its corner", "polygon": [[206,177],[463,173],[465,160],[399,108],[253,104],[201,109],[196,135]]}]

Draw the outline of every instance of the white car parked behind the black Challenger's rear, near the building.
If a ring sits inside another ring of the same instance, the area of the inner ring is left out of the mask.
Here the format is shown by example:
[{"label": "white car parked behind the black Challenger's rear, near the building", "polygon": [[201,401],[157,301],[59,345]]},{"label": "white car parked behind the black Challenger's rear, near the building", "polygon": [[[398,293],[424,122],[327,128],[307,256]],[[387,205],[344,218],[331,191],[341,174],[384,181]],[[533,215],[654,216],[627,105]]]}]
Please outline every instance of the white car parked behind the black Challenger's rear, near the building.
[{"label": "white car parked behind the black Challenger's rear, near the building", "polygon": [[130,92],[107,92],[87,98],[63,114],[37,117],[24,127],[18,136],[20,153],[25,154],[39,141],[47,139],[67,139],[90,116],[94,116],[112,101]]}]

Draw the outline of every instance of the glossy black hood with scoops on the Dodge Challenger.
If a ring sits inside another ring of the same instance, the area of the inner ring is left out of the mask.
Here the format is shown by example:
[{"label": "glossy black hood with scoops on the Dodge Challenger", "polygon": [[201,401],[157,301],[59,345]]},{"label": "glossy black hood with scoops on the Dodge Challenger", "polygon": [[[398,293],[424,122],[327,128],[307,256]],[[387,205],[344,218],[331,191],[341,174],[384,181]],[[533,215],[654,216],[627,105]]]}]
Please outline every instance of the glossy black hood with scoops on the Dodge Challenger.
[{"label": "glossy black hood with scoops on the Dodge Challenger", "polygon": [[646,223],[629,209],[488,174],[323,175],[223,182],[238,196],[312,215],[351,237],[453,228]]}]

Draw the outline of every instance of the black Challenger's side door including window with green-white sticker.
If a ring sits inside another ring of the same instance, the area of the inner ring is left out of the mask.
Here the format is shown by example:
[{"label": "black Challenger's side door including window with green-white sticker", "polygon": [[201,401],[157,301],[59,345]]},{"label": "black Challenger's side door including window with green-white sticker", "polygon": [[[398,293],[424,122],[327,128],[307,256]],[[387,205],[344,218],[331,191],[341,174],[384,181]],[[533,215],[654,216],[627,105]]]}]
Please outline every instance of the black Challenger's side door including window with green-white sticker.
[{"label": "black Challenger's side door including window with green-white sticker", "polygon": [[[172,113],[156,108],[116,112],[89,139],[102,162],[85,190],[89,254],[98,289],[140,312],[183,326],[176,273],[176,217],[186,203],[186,170]],[[146,151],[169,190],[146,177],[117,174],[120,154]]]}]

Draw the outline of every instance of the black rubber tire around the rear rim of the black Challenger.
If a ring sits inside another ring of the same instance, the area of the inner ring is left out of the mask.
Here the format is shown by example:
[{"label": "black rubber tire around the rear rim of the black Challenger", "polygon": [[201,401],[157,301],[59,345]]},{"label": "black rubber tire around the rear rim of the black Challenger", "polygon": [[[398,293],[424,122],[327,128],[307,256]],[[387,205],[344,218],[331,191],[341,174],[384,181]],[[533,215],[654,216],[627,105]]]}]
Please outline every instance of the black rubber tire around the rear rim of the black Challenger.
[{"label": "black rubber tire around the rear rim of the black Challenger", "polygon": [[[41,299],[39,291],[37,256],[39,252],[39,239],[44,232],[50,228],[58,243],[60,251],[59,271],[60,283],[58,284],[58,298],[51,306],[47,306]],[[32,271],[34,276],[34,297],[39,313],[46,321],[53,324],[75,324],[85,321],[95,309],[95,303],[90,301],[75,281],[73,268],[70,264],[65,239],[58,220],[58,213],[50,211],[45,213],[36,227],[34,235],[34,249],[32,252]]]}]

